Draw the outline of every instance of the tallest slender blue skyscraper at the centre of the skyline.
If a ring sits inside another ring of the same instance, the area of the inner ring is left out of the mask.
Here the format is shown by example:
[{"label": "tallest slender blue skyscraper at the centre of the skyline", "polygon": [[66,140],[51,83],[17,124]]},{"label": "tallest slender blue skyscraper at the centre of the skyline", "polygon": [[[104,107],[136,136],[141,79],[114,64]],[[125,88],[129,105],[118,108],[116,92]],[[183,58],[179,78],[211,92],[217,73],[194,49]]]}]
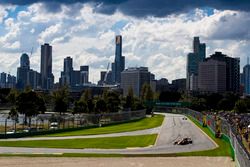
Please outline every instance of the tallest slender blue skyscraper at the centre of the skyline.
[{"label": "tallest slender blue skyscraper at the centre of the skyline", "polygon": [[121,83],[121,72],[125,68],[125,57],[122,56],[122,36],[115,37],[115,61],[112,63],[112,80],[113,83]]}]

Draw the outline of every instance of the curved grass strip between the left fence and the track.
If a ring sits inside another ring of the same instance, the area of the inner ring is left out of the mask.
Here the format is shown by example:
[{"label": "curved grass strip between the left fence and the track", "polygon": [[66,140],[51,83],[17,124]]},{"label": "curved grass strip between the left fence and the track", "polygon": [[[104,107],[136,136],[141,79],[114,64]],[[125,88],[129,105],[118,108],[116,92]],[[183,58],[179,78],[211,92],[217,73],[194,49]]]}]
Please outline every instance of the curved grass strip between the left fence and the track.
[{"label": "curved grass strip between the left fence and the track", "polygon": [[163,115],[155,115],[154,117],[147,117],[134,122],[108,125],[98,128],[75,130],[70,132],[53,133],[42,135],[42,137],[83,136],[144,130],[161,126],[163,120]]}]

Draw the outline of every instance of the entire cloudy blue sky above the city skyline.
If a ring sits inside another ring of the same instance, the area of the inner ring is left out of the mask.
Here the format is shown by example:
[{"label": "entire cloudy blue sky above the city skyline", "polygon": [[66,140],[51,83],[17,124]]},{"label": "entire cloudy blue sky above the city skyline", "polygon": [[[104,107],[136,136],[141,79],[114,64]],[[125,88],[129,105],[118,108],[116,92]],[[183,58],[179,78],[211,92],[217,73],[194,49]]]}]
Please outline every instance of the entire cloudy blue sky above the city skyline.
[{"label": "entire cloudy blue sky above the city skyline", "polygon": [[40,45],[53,46],[56,81],[63,59],[90,66],[100,79],[114,61],[115,35],[123,36],[126,68],[147,66],[157,79],[186,76],[186,56],[199,36],[207,57],[215,51],[250,56],[249,0],[1,0],[0,72],[16,75],[23,52],[40,71]]}]

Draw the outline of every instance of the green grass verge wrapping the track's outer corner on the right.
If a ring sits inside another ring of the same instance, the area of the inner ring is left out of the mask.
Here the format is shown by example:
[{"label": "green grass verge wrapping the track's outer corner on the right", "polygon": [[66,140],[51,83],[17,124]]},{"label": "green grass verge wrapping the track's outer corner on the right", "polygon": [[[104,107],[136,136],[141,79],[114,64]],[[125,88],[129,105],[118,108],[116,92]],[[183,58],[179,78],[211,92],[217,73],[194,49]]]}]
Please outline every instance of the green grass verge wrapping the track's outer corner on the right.
[{"label": "green grass verge wrapping the track's outer corner on the right", "polygon": [[231,156],[231,149],[229,142],[227,142],[223,138],[222,139],[215,138],[214,134],[210,131],[208,127],[202,127],[201,124],[191,116],[188,116],[188,118],[191,121],[193,121],[211,139],[213,139],[218,144],[219,147],[206,151],[176,153],[176,156]]}]

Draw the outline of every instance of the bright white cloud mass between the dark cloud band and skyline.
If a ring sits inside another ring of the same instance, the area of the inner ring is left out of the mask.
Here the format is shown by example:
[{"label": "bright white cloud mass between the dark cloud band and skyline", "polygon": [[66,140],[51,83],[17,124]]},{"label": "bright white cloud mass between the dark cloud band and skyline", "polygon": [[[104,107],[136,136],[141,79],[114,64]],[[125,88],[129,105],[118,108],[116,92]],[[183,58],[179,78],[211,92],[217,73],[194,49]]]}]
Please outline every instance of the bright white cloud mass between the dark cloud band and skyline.
[{"label": "bright white cloud mass between the dark cloud band and skyline", "polygon": [[31,67],[40,71],[40,44],[49,42],[53,45],[56,79],[63,69],[63,58],[71,56],[75,69],[90,65],[90,80],[97,82],[100,70],[106,70],[114,59],[116,34],[123,36],[126,67],[148,66],[157,78],[169,80],[185,77],[186,55],[191,52],[193,36],[201,36],[201,41],[207,43],[208,55],[223,51],[241,57],[241,65],[250,55],[250,13],[216,10],[209,16],[196,9],[193,15],[138,19],[119,12],[95,13],[91,5],[79,8],[76,15],[71,14],[74,9],[70,6],[50,13],[37,3],[20,11],[17,18],[4,16],[6,34],[0,35],[0,57],[10,61],[1,61],[0,70],[13,68],[21,50],[29,52],[33,46]]}]

